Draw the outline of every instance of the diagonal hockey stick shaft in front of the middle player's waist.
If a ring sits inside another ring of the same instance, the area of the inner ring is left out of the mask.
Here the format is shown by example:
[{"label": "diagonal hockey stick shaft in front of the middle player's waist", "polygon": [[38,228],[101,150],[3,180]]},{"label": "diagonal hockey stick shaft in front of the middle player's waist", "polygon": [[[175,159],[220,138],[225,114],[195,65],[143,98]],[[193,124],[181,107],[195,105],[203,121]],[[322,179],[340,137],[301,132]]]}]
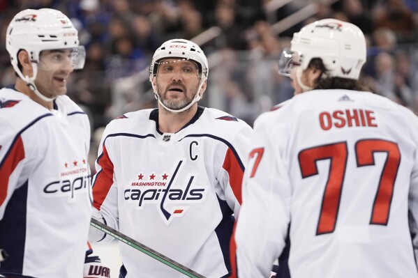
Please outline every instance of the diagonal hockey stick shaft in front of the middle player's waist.
[{"label": "diagonal hockey stick shaft in front of the middle player's waist", "polygon": [[174,268],[175,270],[183,273],[184,275],[187,275],[188,277],[205,278],[204,276],[200,275],[197,272],[194,272],[190,268],[186,268],[186,266],[181,265],[180,263],[177,263],[176,261],[173,261],[171,258],[167,258],[163,254],[156,252],[155,250],[143,245],[142,243],[137,242],[133,238],[128,237],[128,235],[124,235],[123,233],[120,233],[119,231],[116,231],[115,229],[110,228],[110,226],[107,226],[94,218],[91,218],[90,225],[94,226],[96,229],[100,231],[107,233],[108,235],[116,238],[117,240],[120,240],[121,242],[126,243],[130,247],[133,247],[139,250],[140,252],[147,254],[148,256],[151,256],[152,258],[155,258],[157,261],[161,261],[161,263],[164,263],[165,265],[170,266],[170,268]]}]

